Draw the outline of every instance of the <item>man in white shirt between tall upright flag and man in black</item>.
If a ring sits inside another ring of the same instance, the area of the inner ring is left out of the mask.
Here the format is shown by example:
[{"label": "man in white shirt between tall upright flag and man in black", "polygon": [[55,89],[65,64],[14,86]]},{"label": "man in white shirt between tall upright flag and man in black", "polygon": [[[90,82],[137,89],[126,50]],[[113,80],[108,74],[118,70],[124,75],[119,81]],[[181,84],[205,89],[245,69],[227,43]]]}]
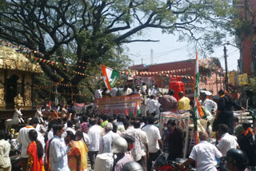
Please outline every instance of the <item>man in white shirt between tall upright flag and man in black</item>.
[{"label": "man in white shirt between tall upright flag and man in black", "polygon": [[200,104],[205,107],[207,111],[215,115],[217,113],[218,105],[213,100],[207,98],[206,93],[200,93]]}]

